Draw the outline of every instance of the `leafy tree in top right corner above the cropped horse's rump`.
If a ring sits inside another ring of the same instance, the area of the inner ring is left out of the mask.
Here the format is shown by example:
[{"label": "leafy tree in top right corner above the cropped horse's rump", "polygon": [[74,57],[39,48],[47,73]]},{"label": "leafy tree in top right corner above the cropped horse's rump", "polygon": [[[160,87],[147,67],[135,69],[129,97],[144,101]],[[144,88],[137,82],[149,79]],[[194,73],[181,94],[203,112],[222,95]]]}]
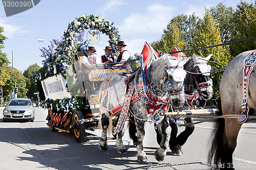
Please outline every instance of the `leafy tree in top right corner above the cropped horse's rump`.
[{"label": "leafy tree in top right corner above the cropped horse's rump", "polygon": [[[256,1],[254,4],[248,4],[246,2],[240,2],[235,12],[236,29],[232,34],[232,40],[240,40],[250,37],[256,37]],[[230,52],[233,56],[238,54],[254,50],[256,48],[256,41],[244,41],[230,45]]]}]

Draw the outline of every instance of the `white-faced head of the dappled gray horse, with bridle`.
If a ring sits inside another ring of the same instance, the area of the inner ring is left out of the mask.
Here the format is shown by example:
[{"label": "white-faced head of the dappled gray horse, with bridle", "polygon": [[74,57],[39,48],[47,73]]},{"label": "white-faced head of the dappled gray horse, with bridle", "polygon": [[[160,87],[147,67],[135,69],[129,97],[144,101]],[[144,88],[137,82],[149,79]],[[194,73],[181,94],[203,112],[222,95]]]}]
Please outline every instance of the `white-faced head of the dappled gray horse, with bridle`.
[{"label": "white-faced head of the dappled gray horse, with bridle", "polygon": [[182,107],[185,102],[184,79],[186,77],[186,71],[183,69],[183,65],[187,62],[187,60],[188,59],[182,61],[177,59],[173,60],[168,55],[166,55],[167,68],[165,69],[167,73],[167,80],[170,82],[168,91],[175,108]]}]

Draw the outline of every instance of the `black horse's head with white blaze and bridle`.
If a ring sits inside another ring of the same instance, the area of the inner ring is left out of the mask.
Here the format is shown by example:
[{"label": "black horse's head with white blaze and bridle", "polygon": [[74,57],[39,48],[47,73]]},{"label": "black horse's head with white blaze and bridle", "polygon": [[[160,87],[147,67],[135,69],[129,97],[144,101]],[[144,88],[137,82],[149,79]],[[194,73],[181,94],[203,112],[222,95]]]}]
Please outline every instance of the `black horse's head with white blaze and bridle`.
[{"label": "black horse's head with white blaze and bridle", "polygon": [[[198,89],[199,95],[203,100],[209,100],[212,97],[213,90],[212,90],[212,80],[209,78],[211,66],[207,65],[207,61],[210,59],[212,55],[209,55],[206,58],[202,58],[193,54],[192,59],[189,62],[189,71],[193,72],[188,74],[186,81],[189,81],[189,85],[192,85],[192,89]],[[197,74],[201,73],[201,74]],[[187,83],[185,83],[187,85]],[[191,87],[191,86],[190,86]],[[188,87],[188,88],[190,88]],[[188,89],[189,91],[189,89]],[[191,93],[191,91],[190,91]]]}]

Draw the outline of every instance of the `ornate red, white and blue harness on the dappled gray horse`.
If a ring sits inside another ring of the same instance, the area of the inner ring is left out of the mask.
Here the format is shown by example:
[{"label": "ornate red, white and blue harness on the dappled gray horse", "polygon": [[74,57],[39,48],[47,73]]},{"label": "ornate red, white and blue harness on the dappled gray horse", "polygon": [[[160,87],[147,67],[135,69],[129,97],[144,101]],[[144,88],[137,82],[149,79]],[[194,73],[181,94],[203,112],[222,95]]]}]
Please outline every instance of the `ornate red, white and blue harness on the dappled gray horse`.
[{"label": "ornate red, white and blue harness on the dappled gray horse", "polygon": [[[102,103],[104,101],[104,98],[107,95],[109,95],[108,94],[109,87],[110,87],[109,82],[113,75],[106,78],[103,81],[100,89],[101,95],[102,95],[102,98],[100,99],[100,112],[102,113],[105,112],[105,114],[110,117],[121,111],[117,126],[113,132],[114,134],[118,133],[122,129],[125,119],[128,116],[130,104],[138,100],[142,100],[145,103],[145,112],[148,117],[147,120],[149,121],[152,120],[154,123],[162,122],[164,118],[164,113],[168,112],[170,103],[172,103],[172,100],[170,99],[178,99],[178,96],[179,96],[178,94],[184,93],[183,86],[180,86],[178,88],[173,88],[172,84],[168,81],[167,70],[174,69],[174,68],[178,68],[178,67],[165,66],[164,68],[164,73],[160,83],[163,84],[165,91],[169,92],[169,94],[163,92],[161,96],[158,96],[157,94],[155,94],[154,91],[162,92],[162,90],[157,88],[150,81],[150,79],[147,76],[145,76],[145,72],[143,71],[143,69],[140,68],[140,70],[138,70],[133,75],[126,78],[125,82],[127,83],[128,90],[127,90],[125,99],[121,104],[117,105],[110,111],[108,110],[108,106],[106,106],[107,108],[105,108],[102,105]],[[179,67],[179,68],[183,68],[183,67]],[[137,86],[137,90],[134,92],[135,86]],[[179,99],[180,99],[180,96],[179,96]],[[183,100],[184,100],[184,97],[183,97]]]}]

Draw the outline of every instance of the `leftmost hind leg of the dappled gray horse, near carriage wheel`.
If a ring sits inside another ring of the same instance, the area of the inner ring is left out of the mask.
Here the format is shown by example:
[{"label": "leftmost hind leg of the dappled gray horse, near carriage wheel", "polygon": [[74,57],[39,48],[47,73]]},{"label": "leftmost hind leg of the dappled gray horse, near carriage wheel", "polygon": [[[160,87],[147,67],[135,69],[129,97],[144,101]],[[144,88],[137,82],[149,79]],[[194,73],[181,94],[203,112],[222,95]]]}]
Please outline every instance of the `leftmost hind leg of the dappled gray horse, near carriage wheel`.
[{"label": "leftmost hind leg of the dappled gray horse, near carriage wheel", "polygon": [[108,150],[108,143],[106,143],[106,139],[107,139],[106,130],[108,129],[109,124],[110,124],[109,117],[106,116],[105,114],[102,114],[102,117],[101,117],[102,133],[101,133],[99,148],[103,151]]}]

